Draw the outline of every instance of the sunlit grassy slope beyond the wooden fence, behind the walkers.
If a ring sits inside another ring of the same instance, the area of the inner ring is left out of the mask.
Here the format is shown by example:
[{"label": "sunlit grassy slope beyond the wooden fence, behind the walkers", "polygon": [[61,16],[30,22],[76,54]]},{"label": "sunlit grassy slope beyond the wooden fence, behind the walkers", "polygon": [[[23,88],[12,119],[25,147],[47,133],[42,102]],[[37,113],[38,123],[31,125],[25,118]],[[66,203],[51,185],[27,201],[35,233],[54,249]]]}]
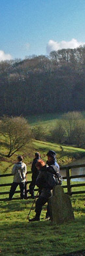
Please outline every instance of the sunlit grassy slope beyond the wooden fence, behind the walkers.
[{"label": "sunlit grassy slope beyond the wooden fence, behind the walkers", "polygon": [[[85,156],[85,149],[79,149],[76,147],[67,147],[67,146],[61,146],[56,143],[50,143],[45,141],[37,141],[33,140],[33,142],[29,145],[26,145],[22,151],[19,151],[15,153],[10,158],[3,158],[1,156],[0,161],[0,172],[3,173],[11,173],[12,170],[12,164],[16,162],[16,158],[18,155],[24,156],[24,162],[27,164],[27,170],[30,170],[31,168],[31,162],[34,158],[34,154],[36,151],[39,151],[41,153],[41,157],[44,161],[47,160],[46,153],[49,149],[52,149],[56,151],[57,153],[57,160],[60,166],[63,166],[65,164],[68,164],[69,162],[73,162],[73,160],[82,158]],[[5,147],[4,147],[5,151]]]}]

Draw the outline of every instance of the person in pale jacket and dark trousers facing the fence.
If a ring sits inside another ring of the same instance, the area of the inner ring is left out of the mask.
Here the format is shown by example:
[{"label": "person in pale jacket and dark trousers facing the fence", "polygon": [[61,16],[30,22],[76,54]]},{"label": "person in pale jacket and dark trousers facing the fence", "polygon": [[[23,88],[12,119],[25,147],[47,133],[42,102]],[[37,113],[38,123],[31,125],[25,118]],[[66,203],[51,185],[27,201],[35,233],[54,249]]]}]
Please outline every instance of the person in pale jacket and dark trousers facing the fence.
[{"label": "person in pale jacket and dark trousers facing the fence", "polygon": [[14,195],[18,185],[20,186],[20,198],[25,198],[25,175],[27,173],[27,167],[26,164],[22,162],[22,160],[23,157],[18,156],[18,162],[16,162],[12,168],[14,179],[9,192],[9,200],[12,200],[12,196]]}]

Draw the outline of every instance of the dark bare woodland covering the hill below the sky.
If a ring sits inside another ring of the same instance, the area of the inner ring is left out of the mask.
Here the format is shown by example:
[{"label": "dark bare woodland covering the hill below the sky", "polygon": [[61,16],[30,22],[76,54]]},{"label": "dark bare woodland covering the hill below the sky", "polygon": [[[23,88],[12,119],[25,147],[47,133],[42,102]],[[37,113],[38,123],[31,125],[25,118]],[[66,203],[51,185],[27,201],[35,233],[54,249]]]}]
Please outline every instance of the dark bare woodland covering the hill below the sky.
[{"label": "dark bare woodland covering the hill below the sky", "polygon": [[0,62],[0,116],[85,110],[85,45]]}]

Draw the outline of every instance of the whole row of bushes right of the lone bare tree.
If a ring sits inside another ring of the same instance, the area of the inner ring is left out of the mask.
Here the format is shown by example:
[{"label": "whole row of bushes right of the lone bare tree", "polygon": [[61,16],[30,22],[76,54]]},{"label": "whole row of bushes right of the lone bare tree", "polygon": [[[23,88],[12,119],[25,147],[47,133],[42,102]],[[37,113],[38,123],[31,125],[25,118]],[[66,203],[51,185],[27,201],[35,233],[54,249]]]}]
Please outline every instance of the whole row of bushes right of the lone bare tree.
[{"label": "whole row of bushes right of the lone bare tree", "polygon": [[42,141],[50,141],[60,145],[71,145],[85,149],[85,119],[79,111],[64,113],[56,119],[55,124],[36,124],[31,129],[33,137]]}]

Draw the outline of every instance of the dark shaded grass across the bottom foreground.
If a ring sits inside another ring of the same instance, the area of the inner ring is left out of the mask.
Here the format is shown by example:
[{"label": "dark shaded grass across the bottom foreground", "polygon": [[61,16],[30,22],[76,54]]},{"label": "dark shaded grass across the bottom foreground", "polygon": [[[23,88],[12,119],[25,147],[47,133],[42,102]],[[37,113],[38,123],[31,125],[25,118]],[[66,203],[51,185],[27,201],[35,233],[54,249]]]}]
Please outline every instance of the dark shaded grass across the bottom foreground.
[{"label": "dark shaded grass across the bottom foreground", "polygon": [[[81,244],[78,246],[78,240],[83,238],[81,229],[84,233],[84,220],[82,221],[82,217],[77,221],[61,225],[52,224],[51,221],[44,220],[28,223],[25,219],[18,219],[18,217],[14,221],[12,219],[6,222],[3,221],[0,225],[3,256],[5,254],[11,256],[12,253],[16,256],[63,256],[67,251],[70,252],[66,254],[67,256],[74,256],[71,251],[84,248]],[[8,247],[9,254],[7,254]]]}]

